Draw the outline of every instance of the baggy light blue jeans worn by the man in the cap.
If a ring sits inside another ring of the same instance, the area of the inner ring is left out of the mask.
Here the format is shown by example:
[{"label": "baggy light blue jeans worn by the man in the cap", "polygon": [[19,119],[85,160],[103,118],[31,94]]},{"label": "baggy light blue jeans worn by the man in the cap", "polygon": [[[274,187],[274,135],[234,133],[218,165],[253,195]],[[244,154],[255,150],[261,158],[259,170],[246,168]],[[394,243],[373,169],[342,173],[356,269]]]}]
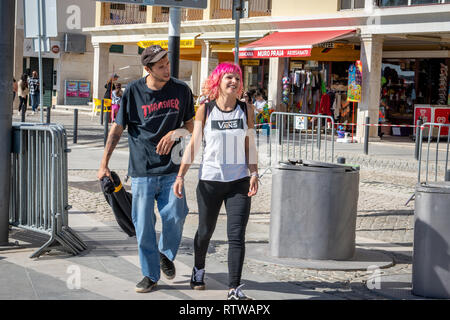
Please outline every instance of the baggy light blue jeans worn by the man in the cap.
[{"label": "baggy light blue jeans worn by the man in the cap", "polygon": [[[136,229],[142,274],[154,282],[160,278],[159,252],[172,261],[175,259],[189,211],[186,196],[178,199],[172,191],[176,176],[174,173],[131,178],[131,215]],[[155,200],[162,222],[158,245],[155,232]]]}]

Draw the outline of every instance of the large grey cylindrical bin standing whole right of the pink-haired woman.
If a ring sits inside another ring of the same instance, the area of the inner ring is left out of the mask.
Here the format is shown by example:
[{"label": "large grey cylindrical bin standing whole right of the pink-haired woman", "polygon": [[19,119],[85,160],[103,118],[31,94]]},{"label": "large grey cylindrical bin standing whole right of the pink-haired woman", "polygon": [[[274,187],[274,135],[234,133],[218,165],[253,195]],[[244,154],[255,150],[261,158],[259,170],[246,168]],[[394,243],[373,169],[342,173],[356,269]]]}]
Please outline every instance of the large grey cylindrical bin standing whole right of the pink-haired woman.
[{"label": "large grey cylindrical bin standing whole right of the pink-haired woman", "polygon": [[359,167],[303,161],[272,171],[270,254],[349,260],[355,253]]}]

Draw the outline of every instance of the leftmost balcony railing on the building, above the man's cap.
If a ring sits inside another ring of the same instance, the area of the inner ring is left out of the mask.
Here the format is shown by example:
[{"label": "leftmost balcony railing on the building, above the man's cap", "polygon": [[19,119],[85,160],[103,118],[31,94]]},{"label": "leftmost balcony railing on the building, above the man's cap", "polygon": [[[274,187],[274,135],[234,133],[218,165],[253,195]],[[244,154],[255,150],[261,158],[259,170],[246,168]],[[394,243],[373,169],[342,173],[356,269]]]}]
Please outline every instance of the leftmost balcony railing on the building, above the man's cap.
[{"label": "leftmost balcony railing on the building, above the man's cap", "polygon": [[147,6],[123,3],[103,3],[103,25],[147,22]]}]

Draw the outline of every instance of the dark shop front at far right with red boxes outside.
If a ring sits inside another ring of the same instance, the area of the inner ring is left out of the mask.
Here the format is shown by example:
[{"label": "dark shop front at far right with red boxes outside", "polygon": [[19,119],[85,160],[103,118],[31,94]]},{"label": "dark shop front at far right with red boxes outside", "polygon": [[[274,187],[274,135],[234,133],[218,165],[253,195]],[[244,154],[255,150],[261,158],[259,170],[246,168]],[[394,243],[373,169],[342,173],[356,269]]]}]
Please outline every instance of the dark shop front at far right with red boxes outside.
[{"label": "dark shop front at far right with red boxes outside", "polygon": [[[380,112],[384,122],[413,125],[420,119],[450,123],[449,66],[450,59],[383,59]],[[408,127],[383,130],[394,136],[414,133]]]}]

